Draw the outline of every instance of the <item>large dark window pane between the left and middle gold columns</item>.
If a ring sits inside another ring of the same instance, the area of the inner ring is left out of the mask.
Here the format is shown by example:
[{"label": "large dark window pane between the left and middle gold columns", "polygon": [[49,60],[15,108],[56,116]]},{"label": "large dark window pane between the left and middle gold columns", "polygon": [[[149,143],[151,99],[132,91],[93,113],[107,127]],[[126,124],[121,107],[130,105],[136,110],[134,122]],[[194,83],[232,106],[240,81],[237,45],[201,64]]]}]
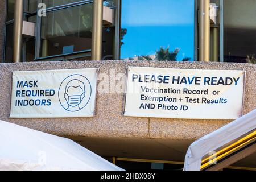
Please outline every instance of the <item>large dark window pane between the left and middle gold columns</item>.
[{"label": "large dark window pane between the left and middle gold columns", "polygon": [[92,3],[50,11],[42,18],[40,56],[91,49]]}]

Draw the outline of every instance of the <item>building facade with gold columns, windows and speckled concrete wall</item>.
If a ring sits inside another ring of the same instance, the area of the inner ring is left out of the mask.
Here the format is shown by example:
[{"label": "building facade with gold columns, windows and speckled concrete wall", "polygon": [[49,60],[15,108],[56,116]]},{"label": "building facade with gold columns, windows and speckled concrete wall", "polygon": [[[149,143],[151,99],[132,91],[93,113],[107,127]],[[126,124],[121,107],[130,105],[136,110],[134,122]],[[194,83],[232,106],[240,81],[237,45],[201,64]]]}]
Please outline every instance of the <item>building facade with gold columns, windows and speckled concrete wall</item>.
[{"label": "building facade with gold columns, windows and speckled concrete wall", "polygon": [[[69,137],[121,167],[182,168],[193,140],[232,122],[124,117],[125,94],[115,84],[127,66],[246,71],[242,113],[256,108],[254,0],[0,0],[0,7],[0,118]],[[9,118],[13,71],[76,68],[100,68],[109,78],[95,117]],[[234,166],[256,168],[255,159]]]}]

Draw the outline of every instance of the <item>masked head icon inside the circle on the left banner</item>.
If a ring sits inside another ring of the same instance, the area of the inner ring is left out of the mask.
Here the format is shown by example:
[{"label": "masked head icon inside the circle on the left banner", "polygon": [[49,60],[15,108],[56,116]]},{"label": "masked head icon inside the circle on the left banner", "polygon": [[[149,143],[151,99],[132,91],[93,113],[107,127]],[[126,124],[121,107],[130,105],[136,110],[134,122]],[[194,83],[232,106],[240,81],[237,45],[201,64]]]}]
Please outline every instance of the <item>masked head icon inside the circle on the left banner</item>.
[{"label": "masked head icon inside the circle on the left banner", "polygon": [[65,88],[64,98],[69,110],[80,109],[79,105],[85,97],[84,83],[79,80],[71,80]]}]

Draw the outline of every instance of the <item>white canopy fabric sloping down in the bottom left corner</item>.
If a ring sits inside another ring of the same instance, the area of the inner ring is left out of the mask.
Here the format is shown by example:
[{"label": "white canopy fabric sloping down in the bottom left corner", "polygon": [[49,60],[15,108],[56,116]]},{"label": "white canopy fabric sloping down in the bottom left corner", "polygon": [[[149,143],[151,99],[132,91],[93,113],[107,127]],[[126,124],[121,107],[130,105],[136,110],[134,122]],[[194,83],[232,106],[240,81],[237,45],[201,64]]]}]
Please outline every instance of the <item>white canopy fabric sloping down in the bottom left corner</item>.
[{"label": "white canopy fabric sloping down in the bottom left corner", "polygon": [[122,171],[70,139],[0,121],[0,170]]}]

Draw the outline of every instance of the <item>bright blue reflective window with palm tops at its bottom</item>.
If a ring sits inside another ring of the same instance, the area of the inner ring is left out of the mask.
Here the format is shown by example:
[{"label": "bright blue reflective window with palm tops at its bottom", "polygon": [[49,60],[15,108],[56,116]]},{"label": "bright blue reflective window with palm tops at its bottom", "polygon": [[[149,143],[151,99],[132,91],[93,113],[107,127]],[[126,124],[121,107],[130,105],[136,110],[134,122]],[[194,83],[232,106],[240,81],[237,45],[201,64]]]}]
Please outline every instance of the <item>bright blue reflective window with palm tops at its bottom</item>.
[{"label": "bright blue reflective window with palm tops at its bottom", "polygon": [[122,0],[121,59],[193,60],[194,6],[193,0]]}]

